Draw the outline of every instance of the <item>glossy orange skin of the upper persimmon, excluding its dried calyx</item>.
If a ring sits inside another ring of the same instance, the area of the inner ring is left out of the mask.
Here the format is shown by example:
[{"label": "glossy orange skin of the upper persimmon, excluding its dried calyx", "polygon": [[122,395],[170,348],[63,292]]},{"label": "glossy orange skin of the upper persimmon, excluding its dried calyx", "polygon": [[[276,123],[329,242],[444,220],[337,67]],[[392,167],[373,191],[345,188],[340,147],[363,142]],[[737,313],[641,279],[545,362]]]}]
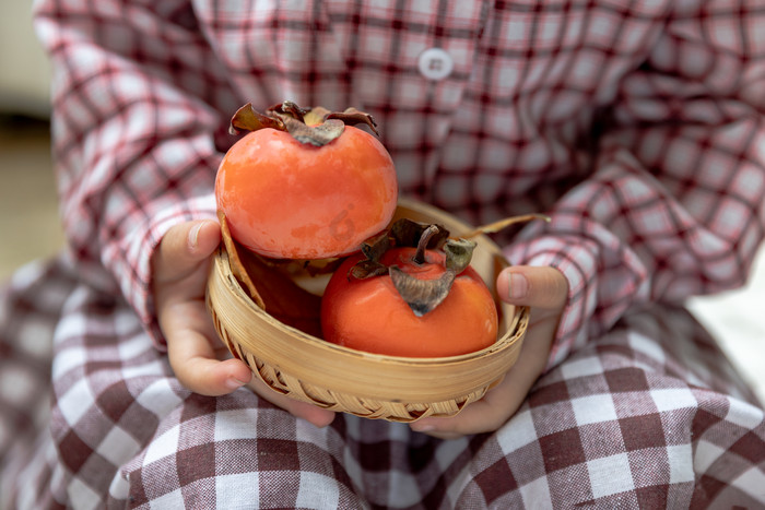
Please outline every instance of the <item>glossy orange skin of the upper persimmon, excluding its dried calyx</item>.
[{"label": "glossy orange skin of the upper persimmon, excluding its dried calyx", "polygon": [[317,147],[274,129],[237,141],[215,178],[234,239],[276,259],[325,259],[358,249],[396,211],[393,162],[372,134],[346,126]]}]

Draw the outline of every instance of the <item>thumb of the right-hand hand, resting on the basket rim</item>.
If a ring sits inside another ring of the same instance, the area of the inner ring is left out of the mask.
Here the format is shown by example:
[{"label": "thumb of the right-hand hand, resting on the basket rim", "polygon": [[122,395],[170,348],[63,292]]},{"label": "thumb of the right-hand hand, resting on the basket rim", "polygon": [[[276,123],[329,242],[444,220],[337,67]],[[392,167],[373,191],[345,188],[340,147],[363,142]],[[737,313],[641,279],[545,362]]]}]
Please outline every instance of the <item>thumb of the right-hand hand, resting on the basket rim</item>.
[{"label": "thumb of the right-hand hand, resting on the basket rim", "polygon": [[561,309],[568,296],[568,281],[555,268],[514,265],[497,276],[497,293],[511,305]]}]

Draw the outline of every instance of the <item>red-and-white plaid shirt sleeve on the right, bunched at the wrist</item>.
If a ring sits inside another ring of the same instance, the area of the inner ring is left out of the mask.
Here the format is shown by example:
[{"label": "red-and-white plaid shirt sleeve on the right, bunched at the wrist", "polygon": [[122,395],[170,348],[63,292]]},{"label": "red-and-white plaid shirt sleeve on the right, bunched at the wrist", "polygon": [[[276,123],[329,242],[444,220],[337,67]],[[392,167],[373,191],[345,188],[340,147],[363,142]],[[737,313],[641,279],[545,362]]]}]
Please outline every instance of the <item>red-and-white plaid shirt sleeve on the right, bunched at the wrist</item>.
[{"label": "red-and-white plaid shirt sleeve on the right, bunched at the wrist", "polygon": [[629,309],[742,285],[763,239],[765,12],[685,3],[603,111],[591,176],[506,250],[568,278],[549,367]]}]

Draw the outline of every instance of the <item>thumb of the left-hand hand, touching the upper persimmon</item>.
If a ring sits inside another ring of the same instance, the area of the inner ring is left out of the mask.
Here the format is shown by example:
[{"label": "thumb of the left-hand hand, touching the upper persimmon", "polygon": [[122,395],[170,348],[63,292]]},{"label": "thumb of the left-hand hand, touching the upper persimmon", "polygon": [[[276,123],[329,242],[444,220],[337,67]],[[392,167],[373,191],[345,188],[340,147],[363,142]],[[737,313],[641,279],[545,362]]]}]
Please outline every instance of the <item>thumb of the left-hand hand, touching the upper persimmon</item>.
[{"label": "thumb of the left-hand hand, touching the upper persimmon", "polygon": [[154,254],[157,283],[169,283],[188,276],[205,261],[221,242],[221,227],[212,220],[186,222],[165,233]]}]

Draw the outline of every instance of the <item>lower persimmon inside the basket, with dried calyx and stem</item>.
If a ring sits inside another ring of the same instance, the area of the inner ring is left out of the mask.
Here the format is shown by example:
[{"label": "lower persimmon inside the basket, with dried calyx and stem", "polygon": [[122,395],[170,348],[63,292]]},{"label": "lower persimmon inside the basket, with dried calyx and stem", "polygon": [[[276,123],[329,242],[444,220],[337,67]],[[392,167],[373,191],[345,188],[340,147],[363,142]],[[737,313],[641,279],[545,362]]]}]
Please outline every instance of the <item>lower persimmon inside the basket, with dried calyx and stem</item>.
[{"label": "lower persimmon inside the basket, with dried calyx and stem", "polygon": [[388,247],[381,238],[349,257],[321,300],[325,340],[408,357],[455,356],[492,345],[497,309],[469,265],[474,244],[449,240],[446,251],[432,249],[434,232],[438,227],[424,229],[416,248]]}]

